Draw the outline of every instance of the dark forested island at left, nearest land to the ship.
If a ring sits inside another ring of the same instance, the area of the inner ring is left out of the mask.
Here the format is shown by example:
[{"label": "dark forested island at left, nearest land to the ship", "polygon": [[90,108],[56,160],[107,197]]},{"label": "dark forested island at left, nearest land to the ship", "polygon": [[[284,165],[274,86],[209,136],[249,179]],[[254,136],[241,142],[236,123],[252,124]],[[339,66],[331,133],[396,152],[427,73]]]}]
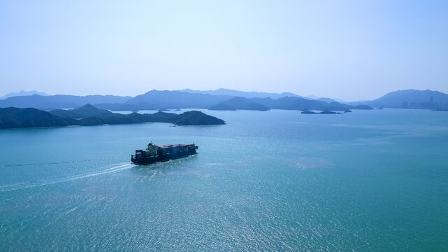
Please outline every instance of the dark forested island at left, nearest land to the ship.
[{"label": "dark forested island at left, nearest land to the ship", "polygon": [[172,123],[174,125],[224,125],[224,120],[208,116],[201,111],[181,114],[157,112],[152,114],[120,114],[97,109],[86,104],[78,109],[41,111],[38,109],[0,109],[0,129],[26,127],[65,127],[115,125],[130,123]]}]

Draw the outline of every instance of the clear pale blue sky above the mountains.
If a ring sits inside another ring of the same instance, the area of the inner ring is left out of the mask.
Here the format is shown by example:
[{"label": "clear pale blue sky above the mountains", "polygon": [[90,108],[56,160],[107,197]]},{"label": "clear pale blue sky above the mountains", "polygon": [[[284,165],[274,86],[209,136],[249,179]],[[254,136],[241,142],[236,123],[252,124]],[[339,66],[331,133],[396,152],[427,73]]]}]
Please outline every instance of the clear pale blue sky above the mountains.
[{"label": "clear pale blue sky above the mountains", "polygon": [[0,96],[448,93],[448,1],[0,1]]}]

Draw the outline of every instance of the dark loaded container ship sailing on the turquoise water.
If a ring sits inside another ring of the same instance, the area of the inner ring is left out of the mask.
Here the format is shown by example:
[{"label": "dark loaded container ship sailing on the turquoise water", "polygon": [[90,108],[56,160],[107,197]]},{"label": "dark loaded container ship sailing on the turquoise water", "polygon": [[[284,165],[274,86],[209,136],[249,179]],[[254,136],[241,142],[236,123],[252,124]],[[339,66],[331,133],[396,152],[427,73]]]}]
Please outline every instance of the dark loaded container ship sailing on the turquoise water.
[{"label": "dark loaded container ship sailing on the turquoise water", "polygon": [[196,154],[198,146],[194,144],[169,144],[157,146],[147,145],[146,150],[136,150],[136,155],[131,155],[131,162],[138,165],[150,165],[154,162],[163,162],[172,159],[184,158]]}]

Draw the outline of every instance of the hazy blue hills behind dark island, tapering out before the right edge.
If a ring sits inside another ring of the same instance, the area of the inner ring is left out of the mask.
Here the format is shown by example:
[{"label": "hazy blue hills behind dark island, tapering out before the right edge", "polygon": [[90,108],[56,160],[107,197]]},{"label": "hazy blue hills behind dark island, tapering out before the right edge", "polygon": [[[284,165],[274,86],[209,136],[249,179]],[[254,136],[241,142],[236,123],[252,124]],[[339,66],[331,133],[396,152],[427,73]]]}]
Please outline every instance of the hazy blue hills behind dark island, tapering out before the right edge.
[{"label": "hazy blue hills behind dark island, tapering out before the right edge", "polygon": [[[0,107],[36,108],[43,110],[71,109],[85,104],[93,104],[99,109],[112,111],[139,111],[165,109],[248,109],[266,111],[269,109],[352,109],[352,106],[333,102],[328,104],[318,100],[302,97],[282,97],[279,99],[234,97],[225,94],[201,94],[180,91],[152,90],[136,97],[119,97],[112,95],[51,95],[10,97],[0,100]],[[64,111],[60,111],[64,113]]]}]

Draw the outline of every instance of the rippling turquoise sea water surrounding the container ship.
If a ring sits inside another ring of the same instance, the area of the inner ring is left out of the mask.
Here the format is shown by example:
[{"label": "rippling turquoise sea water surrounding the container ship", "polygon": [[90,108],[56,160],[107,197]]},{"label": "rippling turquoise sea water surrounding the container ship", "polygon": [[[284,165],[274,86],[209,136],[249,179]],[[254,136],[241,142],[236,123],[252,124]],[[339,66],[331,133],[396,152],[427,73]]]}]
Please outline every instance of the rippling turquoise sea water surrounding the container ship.
[{"label": "rippling turquoise sea water surrounding the container ship", "polygon": [[[0,131],[0,251],[446,251],[448,113]],[[192,143],[150,166],[136,148]]]}]

